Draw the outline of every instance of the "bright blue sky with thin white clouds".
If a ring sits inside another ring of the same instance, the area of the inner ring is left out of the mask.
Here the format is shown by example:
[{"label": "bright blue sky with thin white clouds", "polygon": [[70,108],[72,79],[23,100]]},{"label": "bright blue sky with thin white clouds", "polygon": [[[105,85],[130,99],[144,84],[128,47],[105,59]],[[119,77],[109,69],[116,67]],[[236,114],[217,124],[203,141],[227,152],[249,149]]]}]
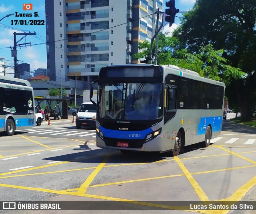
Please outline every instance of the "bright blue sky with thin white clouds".
[{"label": "bright blue sky with thin white clouds", "polygon": [[[164,9],[165,9],[164,0]],[[192,9],[196,0],[176,0],[175,7],[180,11],[188,11]],[[24,6],[24,4],[32,4],[32,10],[24,10],[24,7],[30,8],[30,5]],[[165,10],[163,10],[164,12]],[[32,14],[32,17],[20,17],[17,14]],[[37,12],[38,16],[35,17],[34,13]],[[12,16],[4,18],[7,14],[14,14]],[[182,16],[181,13],[177,16]],[[2,19],[3,18],[3,19]],[[1,0],[0,1],[0,57],[5,59],[6,73],[8,76],[13,76],[14,73],[14,57],[11,55],[11,48],[14,46],[13,33],[28,33],[36,32],[36,35],[27,35],[22,39],[23,35],[16,35],[16,41],[18,44],[31,43],[26,47],[17,46],[17,59],[18,63],[30,64],[30,71],[34,71],[38,68],[47,68],[46,61],[46,26],[44,25],[30,25],[30,20],[44,20],[45,21],[45,1],[44,0]],[[26,24],[25,25],[25,21]],[[172,32],[180,23],[179,18],[175,18],[175,23],[169,27],[167,24],[163,28],[163,32]],[[23,25],[22,25],[23,24]],[[40,44],[43,43],[43,44]],[[24,46],[24,45],[22,45]],[[10,67],[10,68],[8,68]]]}]

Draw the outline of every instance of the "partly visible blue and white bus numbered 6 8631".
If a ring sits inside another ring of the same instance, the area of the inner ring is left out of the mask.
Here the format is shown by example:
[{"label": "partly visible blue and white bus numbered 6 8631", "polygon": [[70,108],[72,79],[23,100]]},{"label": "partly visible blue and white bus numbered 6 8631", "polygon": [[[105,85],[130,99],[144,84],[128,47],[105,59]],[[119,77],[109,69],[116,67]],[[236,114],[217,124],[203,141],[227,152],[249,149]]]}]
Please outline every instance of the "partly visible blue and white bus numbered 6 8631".
[{"label": "partly visible blue and white bus numbered 6 8631", "polygon": [[34,91],[27,80],[0,76],[0,132],[35,126]]}]

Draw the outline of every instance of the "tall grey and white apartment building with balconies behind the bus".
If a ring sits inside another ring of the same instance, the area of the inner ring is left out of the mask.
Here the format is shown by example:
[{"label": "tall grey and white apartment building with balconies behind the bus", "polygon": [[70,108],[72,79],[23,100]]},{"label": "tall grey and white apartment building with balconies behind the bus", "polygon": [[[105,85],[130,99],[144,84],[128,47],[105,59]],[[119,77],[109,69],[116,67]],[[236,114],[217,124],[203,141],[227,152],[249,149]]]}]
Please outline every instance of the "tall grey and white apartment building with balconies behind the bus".
[{"label": "tall grey and white apartment building with balconies behind the bus", "polygon": [[[138,63],[138,43],[155,32],[163,0],[45,0],[50,80],[80,77],[88,86],[101,67]],[[154,15],[151,15],[154,14]],[[162,16],[160,16],[162,21]],[[161,22],[159,22],[159,25]]]}]

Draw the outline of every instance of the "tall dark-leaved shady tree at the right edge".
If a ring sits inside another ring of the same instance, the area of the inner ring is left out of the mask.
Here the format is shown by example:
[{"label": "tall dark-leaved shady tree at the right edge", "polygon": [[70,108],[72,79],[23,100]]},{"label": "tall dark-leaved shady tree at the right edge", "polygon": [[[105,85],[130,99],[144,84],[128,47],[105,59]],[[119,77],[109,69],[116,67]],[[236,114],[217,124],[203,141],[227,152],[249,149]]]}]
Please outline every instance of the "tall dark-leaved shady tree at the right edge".
[{"label": "tall dark-leaved shady tree at the right edge", "polygon": [[[194,8],[184,14],[182,24],[173,35],[179,38],[181,47],[191,53],[209,43],[214,49],[225,50],[223,57],[229,62],[227,66],[240,69],[226,73],[230,81],[228,87],[231,87],[227,92],[236,91],[241,118],[249,120],[256,91],[256,0],[198,0]],[[247,75],[243,78],[231,75],[238,71]]]}]

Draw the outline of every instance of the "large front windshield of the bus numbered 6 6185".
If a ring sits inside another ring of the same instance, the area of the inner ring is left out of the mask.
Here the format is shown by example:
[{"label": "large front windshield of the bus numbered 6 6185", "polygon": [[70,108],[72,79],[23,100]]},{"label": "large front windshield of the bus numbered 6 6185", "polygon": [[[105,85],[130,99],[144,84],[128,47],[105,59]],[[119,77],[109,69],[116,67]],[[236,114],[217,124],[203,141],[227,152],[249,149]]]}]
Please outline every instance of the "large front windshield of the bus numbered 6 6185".
[{"label": "large front windshield of the bus numbered 6 6185", "polygon": [[163,116],[162,83],[102,83],[99,116],[115,120],[156,120]]}]

